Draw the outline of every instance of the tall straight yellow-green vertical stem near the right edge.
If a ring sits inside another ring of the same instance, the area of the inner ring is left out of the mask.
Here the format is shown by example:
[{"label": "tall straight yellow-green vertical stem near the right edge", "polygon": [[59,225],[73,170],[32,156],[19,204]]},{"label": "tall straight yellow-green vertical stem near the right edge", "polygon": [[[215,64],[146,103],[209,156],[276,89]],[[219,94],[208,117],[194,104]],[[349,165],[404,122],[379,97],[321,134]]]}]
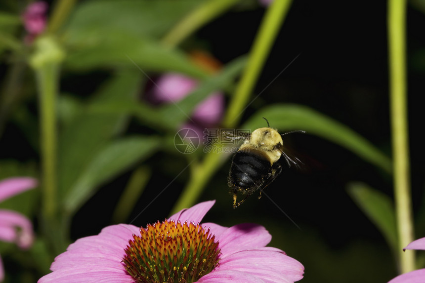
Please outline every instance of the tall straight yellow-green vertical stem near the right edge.
[{"label": "tall straight yellow-green vertical stem near the right edge", "polygon": [[415,269],[415,253],[402,251],[414,240],[407,121],[406,1],[389,0],[387,16],[394,198],[400,273],[406,273]]}]

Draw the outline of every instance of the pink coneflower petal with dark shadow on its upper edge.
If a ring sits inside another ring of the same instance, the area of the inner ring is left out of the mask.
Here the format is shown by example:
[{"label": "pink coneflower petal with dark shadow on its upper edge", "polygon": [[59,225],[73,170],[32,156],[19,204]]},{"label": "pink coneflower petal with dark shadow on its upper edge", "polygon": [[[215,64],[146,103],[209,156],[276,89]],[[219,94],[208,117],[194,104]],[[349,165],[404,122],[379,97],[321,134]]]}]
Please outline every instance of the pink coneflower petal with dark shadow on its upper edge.
[{"label": "pink coneflower petal with dark shadow on its upper edge", "polygon": [[270,243],[271,235],[260,225],[243,223],[227,229],[215,238],[222,254],[232,254],[245,249],[263,247]]}]

